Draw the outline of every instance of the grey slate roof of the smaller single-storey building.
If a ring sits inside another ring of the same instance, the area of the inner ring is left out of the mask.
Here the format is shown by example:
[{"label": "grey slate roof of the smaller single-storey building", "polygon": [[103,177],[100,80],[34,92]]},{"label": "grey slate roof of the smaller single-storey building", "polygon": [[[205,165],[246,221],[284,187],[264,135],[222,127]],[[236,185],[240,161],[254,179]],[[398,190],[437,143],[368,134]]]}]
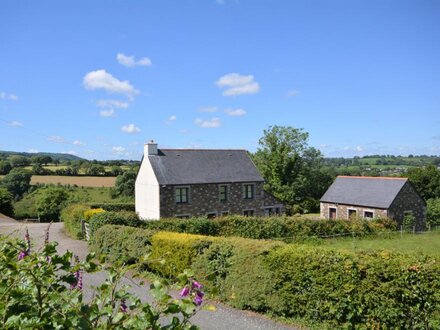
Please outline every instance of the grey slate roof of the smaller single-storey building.
[{"label": "grey slate roof of the smaller single-storey building", "polygon": [[387,209],[407,181],[406,178],[338,176],[321,202]]}]

